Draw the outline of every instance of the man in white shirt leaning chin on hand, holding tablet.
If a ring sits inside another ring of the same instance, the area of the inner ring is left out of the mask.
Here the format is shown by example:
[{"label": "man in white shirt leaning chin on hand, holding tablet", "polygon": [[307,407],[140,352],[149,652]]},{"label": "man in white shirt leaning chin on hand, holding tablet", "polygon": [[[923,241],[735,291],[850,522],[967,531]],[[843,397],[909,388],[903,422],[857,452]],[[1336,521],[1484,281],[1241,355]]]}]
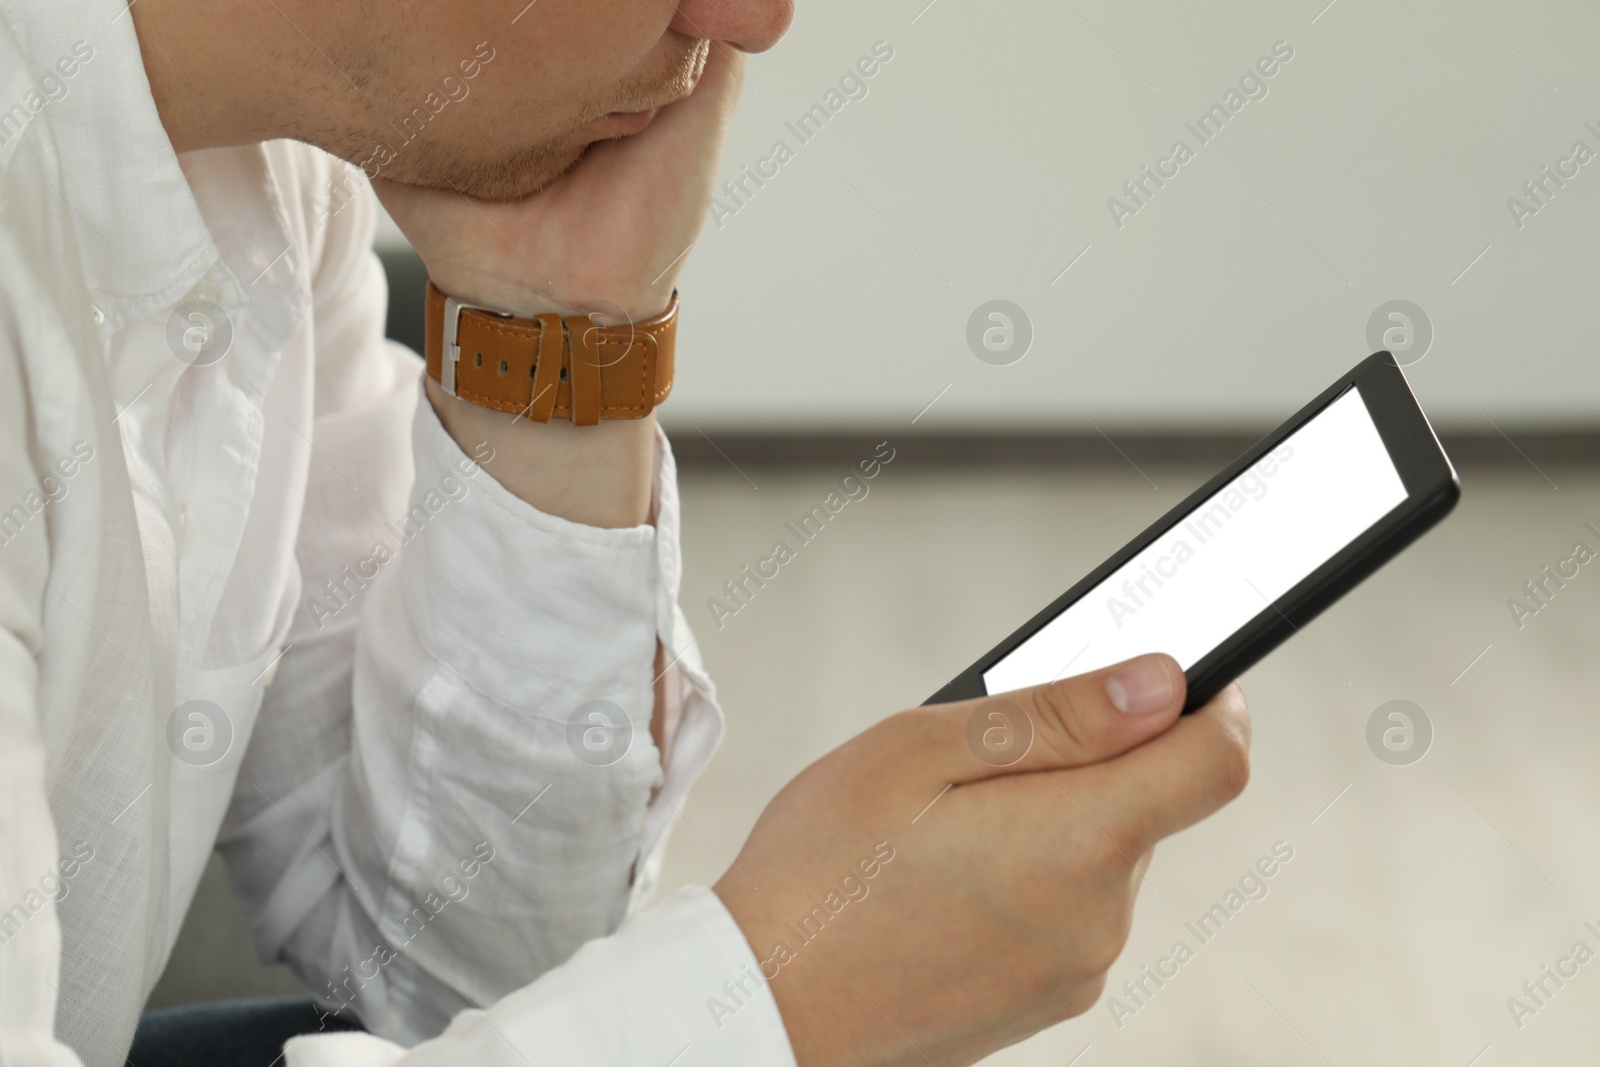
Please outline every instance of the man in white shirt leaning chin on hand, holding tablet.
[{"label": "man in white shirt leaning chin on hand, holding tablet", "polygon": [[1166,657],[1011,694],[1010,766],[890,717],[645,909],[722,729],[653,410],[789,0],[0,6],[0,1062],[123,1062],[213,846],[366,1030],[291,1065],[957,1064],[1094,1001],[1246,776]]}]

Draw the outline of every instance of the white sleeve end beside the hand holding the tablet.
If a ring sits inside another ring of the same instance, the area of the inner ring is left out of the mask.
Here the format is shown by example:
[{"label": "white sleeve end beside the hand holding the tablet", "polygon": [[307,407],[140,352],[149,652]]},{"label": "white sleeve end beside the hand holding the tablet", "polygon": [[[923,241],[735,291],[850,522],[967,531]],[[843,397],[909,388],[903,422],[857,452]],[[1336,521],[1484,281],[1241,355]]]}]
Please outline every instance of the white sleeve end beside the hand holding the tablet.
[{"label": "white sleeve end beside the hand holding the tablet", "polygon": [[294,1038],[288,1067],[795,1067],[760,963],[706,886],[590,941],[490,1009],[461,1013],[410,1053],[341,1037]]}]

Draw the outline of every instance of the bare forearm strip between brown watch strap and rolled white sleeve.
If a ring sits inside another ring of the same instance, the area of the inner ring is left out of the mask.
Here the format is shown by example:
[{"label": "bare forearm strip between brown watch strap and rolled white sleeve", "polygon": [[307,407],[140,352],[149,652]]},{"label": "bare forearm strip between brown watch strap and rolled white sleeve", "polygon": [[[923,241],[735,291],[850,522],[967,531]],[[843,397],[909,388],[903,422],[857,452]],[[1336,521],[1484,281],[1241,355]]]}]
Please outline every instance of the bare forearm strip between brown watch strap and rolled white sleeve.
[{"label": "bare forearm strip between brown watch strap and rolled white sleeve", "polygon": [[534,422],[450,397],[434,379],[427,398],[462,451],[488,442],[493,477],[546,515],[605,528],[650,520],[654,414],[598,426]]}]

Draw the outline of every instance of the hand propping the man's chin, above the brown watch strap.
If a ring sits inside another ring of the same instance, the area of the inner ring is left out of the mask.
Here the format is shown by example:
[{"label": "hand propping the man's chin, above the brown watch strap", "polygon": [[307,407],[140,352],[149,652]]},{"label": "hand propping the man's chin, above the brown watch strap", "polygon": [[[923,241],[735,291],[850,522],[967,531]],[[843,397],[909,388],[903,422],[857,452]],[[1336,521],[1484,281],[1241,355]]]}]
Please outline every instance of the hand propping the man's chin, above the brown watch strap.
[{"label": "hand propping the man's chin, above the brown watch strap", "polygon": [[509,203],[374,181],[440,290],[501,310],[659,314],[710,206],[744,54],[707,43],[694,91],[646,130],[594,144],[538,195]]}]

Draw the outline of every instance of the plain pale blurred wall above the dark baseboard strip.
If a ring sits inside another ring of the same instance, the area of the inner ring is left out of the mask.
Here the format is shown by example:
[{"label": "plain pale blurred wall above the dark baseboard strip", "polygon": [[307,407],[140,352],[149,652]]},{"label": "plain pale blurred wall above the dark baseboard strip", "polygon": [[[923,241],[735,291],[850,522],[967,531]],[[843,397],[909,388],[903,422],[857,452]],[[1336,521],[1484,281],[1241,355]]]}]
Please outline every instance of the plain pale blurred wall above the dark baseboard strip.
[{"label": "plain pale blurred wall above the dark baseboard strip", "polygon": [[[666,419],[875,432],[939,397],[918,430],[1261,426],[1406,299],[1442,426],[1592,424],[1597,38],[1579,0],[802,0],[749,64],[723,176],[768,178],[688,259]],[[1032,323],[1010,366],[968,346],[992,299]]]}]

